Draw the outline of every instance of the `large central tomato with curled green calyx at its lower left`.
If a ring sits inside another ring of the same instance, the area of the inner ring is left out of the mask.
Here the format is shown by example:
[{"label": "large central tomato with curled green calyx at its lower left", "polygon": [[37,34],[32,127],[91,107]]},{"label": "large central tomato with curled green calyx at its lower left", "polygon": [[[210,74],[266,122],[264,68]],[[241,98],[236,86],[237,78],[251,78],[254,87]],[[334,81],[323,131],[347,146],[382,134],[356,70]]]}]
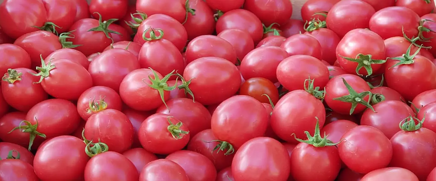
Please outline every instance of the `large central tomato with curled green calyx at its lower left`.
[{"label": "large central tomato with curled green calyx at its lower left", "polygon": [[248,140],[263,136],[268,115],[261,102],[247,95],[235,95],[221,102],[211,120],[212,132],[221,146],[215,148],[228,148],[225,154],[229,155]]}]

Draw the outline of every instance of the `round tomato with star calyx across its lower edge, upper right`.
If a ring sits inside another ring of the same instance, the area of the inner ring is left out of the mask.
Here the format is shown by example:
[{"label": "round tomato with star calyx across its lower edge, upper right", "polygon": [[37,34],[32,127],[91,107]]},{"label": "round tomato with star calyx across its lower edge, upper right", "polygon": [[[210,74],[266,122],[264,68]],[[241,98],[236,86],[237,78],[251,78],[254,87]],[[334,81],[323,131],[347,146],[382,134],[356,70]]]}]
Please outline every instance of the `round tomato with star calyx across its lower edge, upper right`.
[{"label": "round tomato with star calyx across its lower edge, upper right", "polygon": [[376,33],[354,29],[345,34],[337,45],[336,57],[339,65],[347,72],[371,76],[386,62],[385,51],[385,43]]}]

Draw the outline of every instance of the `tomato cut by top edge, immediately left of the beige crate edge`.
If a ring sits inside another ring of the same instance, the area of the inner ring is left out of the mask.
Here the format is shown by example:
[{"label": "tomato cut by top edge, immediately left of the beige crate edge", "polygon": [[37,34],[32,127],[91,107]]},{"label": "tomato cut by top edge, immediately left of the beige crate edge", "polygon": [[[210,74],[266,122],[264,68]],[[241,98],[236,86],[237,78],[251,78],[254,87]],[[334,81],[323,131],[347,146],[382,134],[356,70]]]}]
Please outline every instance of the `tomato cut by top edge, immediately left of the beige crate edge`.
[{"label": "tomato cut by top edge, immediately left of the beige crate edge", "polygon": [[272,23],[285,24],[292,16],[289,0],[245,0],[244,9],[253,12],[266,26]]}]

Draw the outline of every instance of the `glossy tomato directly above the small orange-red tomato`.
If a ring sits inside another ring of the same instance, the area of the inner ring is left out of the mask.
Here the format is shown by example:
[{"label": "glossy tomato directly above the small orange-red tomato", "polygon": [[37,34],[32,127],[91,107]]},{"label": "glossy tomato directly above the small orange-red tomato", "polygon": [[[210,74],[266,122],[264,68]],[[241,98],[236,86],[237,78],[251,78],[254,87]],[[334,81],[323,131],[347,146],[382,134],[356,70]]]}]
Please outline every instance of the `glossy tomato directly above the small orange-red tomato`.
[{"label": "glossy tomato directly above the small orange-red tomato", "polygon": [[288,56],[285,50],[276,46],[253,49],[241,61],[241,74],[244,79],[262,77],[276,83],[277,66]]}]

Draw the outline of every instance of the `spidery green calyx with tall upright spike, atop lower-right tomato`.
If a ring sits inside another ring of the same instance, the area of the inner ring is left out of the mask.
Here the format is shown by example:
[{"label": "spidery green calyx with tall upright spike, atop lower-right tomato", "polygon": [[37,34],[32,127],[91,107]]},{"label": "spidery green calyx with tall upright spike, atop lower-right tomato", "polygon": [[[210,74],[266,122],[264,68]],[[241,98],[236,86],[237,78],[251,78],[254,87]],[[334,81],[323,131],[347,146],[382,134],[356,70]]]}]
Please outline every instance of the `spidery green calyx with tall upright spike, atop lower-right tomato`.
[{"label": "spidery green calyx with tall upright spike, atop lower-right tomato", "polygon": [[320,121],[316,116],[315,116],[315,118],[317,119],[317,124],[315,125],[315,133],[313,134],[313,136],[310,135],[310,133],[308,131],[305,131],[304,134],[306,134],[307,140],[302,140],[302,139],[297,138],[295,133],[293,133],[292,135],[294,135],[295,140],[298,142],[313,145],[314,147],[317,147],[317,148],[321,148],[321,147],[325,147],[325,146],[334,146],[334,145],[339,144],[340,142],[333,143],[332,141],[328,140],[325,132],[324,132],[324,138],[321,137],[320,123],[319,123]]}]

